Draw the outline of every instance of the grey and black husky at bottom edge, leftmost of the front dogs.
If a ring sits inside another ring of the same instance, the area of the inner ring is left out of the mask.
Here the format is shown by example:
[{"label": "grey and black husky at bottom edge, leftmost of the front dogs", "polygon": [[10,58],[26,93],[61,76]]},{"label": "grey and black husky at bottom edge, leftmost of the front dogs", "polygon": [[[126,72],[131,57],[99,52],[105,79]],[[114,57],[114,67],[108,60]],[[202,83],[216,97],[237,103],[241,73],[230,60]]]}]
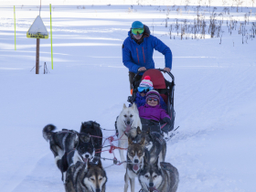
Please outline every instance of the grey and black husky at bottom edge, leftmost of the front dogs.
[{"label": "grey and black husky at bottom edge, leftmost of the front dogs", "polygon": [[105,192],[108,178],[102,168],[101,160],[98,165],[77,162],[69,166],[66,176],[66,192]]}]

